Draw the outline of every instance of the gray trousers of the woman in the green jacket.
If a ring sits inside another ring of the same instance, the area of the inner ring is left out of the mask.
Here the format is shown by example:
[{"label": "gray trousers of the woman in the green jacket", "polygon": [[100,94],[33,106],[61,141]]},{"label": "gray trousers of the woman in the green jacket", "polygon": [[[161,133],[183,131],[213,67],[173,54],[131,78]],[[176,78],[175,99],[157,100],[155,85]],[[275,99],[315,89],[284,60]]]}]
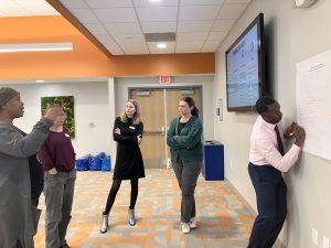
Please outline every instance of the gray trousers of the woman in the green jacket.
[{"label": "gray trousers of the woman in the green jacket", "polygon": [[195,217],[194,190],[201,162],[172,162],[172,168],[182,191],[181,220],[190,223],[190,219]]}]

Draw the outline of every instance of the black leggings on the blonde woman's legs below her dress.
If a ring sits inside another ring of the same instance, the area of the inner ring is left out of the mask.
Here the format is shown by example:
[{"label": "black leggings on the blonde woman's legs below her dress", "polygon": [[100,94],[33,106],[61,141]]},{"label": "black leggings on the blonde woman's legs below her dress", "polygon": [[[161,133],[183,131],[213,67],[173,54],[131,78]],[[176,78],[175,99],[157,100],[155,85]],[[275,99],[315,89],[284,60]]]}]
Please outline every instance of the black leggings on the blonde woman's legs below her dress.
[{"label": "black leggings on the blonde woman's legs below her dress", "polygon": [[[105,212],[103,213],[103,215],[109,214],[109,212],[113,207],[113,204],[115,202],[116,194],[120,187],[120,183],[121,183],[121,180],[113,180],[113,185],[110,187],[106,208],[105,208]],[[130,206],[129,206],[130,209],[135,209],[137,197],[138,197],[138,179],[132,179],[131,180],[131,197],[130,197]]]}]

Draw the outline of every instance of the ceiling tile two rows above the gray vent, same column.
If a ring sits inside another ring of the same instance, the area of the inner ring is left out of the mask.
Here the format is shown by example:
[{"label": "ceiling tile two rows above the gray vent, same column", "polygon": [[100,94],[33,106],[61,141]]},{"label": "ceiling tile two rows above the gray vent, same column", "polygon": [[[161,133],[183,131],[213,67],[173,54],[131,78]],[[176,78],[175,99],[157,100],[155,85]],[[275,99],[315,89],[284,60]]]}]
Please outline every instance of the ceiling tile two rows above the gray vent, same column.
[{"label": "ceiling tile two rows above the gray vent, same column", "polygon": [[177,21],[177,7],[137,8],[141,22],[172,22]]}]

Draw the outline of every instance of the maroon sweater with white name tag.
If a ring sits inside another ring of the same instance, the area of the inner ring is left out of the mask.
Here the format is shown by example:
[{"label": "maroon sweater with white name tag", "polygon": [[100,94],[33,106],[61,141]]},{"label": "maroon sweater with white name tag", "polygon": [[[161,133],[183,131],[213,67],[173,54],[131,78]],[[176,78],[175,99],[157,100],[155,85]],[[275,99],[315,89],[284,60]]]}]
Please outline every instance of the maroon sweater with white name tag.
[{"label": "maroon sweater with white name tag", "polygon": [[50,130],[47,139],[39,151],[44,171],[55,168],[58,172],[70,172],[75,168],[75,155],[66,128],[63,128],[62,132]]}]

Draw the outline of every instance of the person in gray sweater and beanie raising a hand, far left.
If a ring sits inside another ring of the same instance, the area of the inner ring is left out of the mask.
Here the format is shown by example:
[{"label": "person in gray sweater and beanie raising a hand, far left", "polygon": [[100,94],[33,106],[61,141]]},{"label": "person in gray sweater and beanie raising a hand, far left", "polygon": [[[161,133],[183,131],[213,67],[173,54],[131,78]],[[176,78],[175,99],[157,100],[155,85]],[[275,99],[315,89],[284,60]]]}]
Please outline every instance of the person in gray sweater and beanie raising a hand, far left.
[{"label": "person in gray sweater and beanie raising a hand, far left", "polygon": [[50,109],[25,134],[13,125],[24,114],[20,93],[0,88],[0,247],[33,248],[40,211],[31,204],[29,157],[47,137],[53,120],[63,114]]}]

